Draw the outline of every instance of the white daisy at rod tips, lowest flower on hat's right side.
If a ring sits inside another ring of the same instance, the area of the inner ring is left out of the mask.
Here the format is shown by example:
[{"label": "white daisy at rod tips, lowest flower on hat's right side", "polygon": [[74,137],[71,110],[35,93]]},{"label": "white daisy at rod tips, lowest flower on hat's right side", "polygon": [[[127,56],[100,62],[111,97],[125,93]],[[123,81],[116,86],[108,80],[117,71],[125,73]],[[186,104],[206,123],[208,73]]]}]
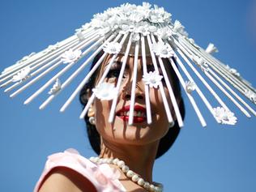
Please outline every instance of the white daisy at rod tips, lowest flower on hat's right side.
[{"label": "white daisy at rod tips, lowest flower on hat's right side", "polygon": [[237,123],[237,117],[234,113],[224,109],[223,107],[214,108],[215,117],[220,121],[221,124],[235,125]]}]

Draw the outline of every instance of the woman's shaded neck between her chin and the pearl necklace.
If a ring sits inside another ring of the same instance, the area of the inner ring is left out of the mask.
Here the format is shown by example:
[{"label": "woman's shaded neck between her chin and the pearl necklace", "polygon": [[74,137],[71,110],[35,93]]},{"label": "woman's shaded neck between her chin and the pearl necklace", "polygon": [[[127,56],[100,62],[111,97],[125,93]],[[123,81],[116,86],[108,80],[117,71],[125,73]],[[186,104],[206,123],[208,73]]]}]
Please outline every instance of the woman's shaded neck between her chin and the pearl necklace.
[{"label": "woman's shaded neck between her chin and the pearl necklace", "polygon": [[129,145],[126,143],[109,143],[103,139],[100,157],[123,160],[130,170],[139,174],[144,180],[152,182],[152,169],[158,144],[159,141],[146,145]]}]

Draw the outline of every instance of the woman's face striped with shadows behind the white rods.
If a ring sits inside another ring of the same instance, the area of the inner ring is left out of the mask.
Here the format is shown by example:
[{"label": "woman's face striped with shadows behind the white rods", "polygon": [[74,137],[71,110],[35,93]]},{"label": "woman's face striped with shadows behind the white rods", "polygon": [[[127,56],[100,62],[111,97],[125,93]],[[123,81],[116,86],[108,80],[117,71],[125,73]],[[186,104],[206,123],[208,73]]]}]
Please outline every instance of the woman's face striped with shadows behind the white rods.
[{"label": "woman's face striped with shadows behind the white rods", "polygon": [[[99,75],[96,78],[96,82],[98,82],[100,77],[103,75],[105,66],[109,64],[110,59],[111,56],[106,58],[105,61],[102,63]],[[122,59],[123,55],[117,56],[115,62],[113,62],[113,65],[109,70],[109,74],[105,78],[106,83],[114,83],[115,86],[117,85],[119,71],[122,67]],[[169,75],[170,83],[172,83],[172,78],[168,70],[169,68],[166,67],[167,65],[168,64],[164,62],[165,69],[167,69],[166,71]],[[108,121],[112,100],[99,100],[96,98],[92,106],[92,109],[94,110],[96,117],[96,129],[98,130],[100,135],[109,142],[142,145],[146,143],[155,142],[156,140],[160,140],[162,137],[164,137],[164,134],[166,134],[167,131],[169,130],[169,122],[165,113],[164,103],[159,88],[151,87],[149,91],[152,118],[151,125],[147,124],[147,117],[144,117],[145,121],[143,122],[136,122],[136,120],[141,120],[142,118],[134,117],[133,125],[129,126],[128,121],[124,121],[125,117],[122,117],[124,115],[121,116],[120,113],[117,113],[123,107],[129,108],[131,97],[131,85],[133,81],[133,66],[134,57],[128,57],[126,62],[126,70],[123,75],[122,84],[117,99],[117,107],[116,113],[113,118],[113,123],[109,123]],[[134,106],[137,105],[146,109],[142,67],[142,58],[139,58]],[[147,72],[149,71],[154,71],[151,58],[147,58]],[[160,75],[162,75],[161,70]],[[164,83],[164,78],[162,79],[162,82],[164,85],[165,96],[167,97],[170,109],[173,113],[173,107],[171,105],[171,100],[169,98],[168,89]],[[136,110],[134,109],[134,112],[135,111]],[[147,115],[146,112],[145,115]],[[129,115],[126,114],[126,116]]]}]

